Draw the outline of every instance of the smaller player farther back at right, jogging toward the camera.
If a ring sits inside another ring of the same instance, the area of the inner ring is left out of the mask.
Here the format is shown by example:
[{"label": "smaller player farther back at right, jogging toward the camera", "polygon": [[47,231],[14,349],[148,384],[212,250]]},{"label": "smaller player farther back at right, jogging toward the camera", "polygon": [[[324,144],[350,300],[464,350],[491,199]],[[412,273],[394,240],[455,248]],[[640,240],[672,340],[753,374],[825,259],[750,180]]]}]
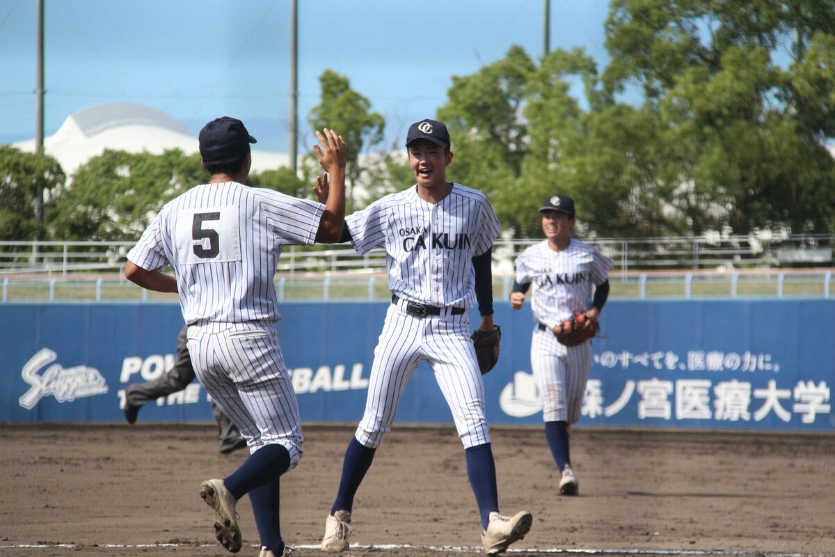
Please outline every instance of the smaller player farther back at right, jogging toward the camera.
[{"label": "smaller player farther back at right, jogging toward the camera", "polygon": [[609,296],[612,260],[571,237],[574,200],[568,195],[550,196],[539,212],[547,240],[530,246],[516,258],[510,306],[514,310],[523,306],[525,292],[533,282],[531,310],[536,326],[530,365],[542,396],[545,437],[560,472],[559,493],[576,495],[579,482],[569,458],[569,425],[579,420],[583,407],[591,367],[591,341],[567,347],[556,335],[560,323],[580,312],[595,320],[600,316]]}]

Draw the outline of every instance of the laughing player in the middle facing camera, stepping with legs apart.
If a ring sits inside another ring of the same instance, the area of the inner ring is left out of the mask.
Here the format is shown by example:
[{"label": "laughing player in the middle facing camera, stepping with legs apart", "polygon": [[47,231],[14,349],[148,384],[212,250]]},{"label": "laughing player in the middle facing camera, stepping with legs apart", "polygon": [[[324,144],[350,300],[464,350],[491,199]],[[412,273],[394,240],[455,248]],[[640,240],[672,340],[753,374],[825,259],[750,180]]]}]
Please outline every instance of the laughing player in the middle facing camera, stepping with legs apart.
[{"label": "laughing player in the middle facing camera, stepping with legs apart", "polygon": [[321,547],[332,553],[348,549],[354,495],[392,427],[412,372],[426,361],[465,448],[484,549],[498,554],[522,539],[532,521],[526,511],[512,517],[498,513],[484,385],[470,340],[468,308],[476,303],[479,328],[493,330],[491,248],[498,219],[483,193],[446,180],[453,154],[443,123],[412,124],[406,146],[417,184],[345,220],[342,241],[351,241],[358,254],[386,251],[392,303],[374,351],[365,413],[345,453]]}]

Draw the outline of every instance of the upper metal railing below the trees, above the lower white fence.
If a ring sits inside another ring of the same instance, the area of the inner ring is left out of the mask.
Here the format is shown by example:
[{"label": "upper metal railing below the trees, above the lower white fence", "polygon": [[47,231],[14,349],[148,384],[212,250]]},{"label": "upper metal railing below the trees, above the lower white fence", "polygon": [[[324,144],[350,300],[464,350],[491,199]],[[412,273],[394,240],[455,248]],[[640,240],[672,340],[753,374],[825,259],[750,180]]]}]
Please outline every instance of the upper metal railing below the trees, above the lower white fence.
[{"label": "upper metal railing below the trees, above the lower white fence", "polygon": [[[541,241],[498,240],[493,261],[512,272],[514,258]],[[615,261],[619,271],[654,269],[736,269],[832,265],[835,235],[736,235],[726,237],[598,238],[586,240]],[[133,241],[0,241],[0,276],[121,271]],[[372,272],[385,269],[381,250],[365,256],[347,245],[288,246],[278,272]]]}]

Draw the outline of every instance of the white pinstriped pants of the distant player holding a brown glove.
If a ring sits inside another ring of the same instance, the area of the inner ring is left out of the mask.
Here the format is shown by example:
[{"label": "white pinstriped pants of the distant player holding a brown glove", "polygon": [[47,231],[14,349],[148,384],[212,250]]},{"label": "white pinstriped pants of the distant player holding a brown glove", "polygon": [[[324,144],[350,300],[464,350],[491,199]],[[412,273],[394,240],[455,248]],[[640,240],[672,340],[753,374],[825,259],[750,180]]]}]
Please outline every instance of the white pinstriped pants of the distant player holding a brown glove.
[{"label": "white pinstriped pants of the distant player holding a brown glove", "polygon": [[591,367],[591,341],[566,347],[554,332],[534,326],[530,367],[542,396],[545,422],[576,423],[583,410],[585,383]]}]

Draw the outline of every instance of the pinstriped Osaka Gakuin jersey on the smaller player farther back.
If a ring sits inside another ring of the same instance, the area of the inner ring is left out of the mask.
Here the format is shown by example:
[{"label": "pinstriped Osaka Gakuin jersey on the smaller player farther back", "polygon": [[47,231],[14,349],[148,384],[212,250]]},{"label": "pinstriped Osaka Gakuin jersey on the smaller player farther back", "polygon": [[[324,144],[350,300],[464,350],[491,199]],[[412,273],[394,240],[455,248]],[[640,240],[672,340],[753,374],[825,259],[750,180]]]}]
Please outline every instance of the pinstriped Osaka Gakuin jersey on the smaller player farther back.
[{"label": "pinstriped Osaka Gakuin jersey on the smaller player farther back", "polygon": [[594,247],[571,238],[563,251],[548,241],[530,246],[516,258],[516,281],[534,284],[534,320],[549,328],[591,306],[591,286],[607,281],[612,260]]}]

